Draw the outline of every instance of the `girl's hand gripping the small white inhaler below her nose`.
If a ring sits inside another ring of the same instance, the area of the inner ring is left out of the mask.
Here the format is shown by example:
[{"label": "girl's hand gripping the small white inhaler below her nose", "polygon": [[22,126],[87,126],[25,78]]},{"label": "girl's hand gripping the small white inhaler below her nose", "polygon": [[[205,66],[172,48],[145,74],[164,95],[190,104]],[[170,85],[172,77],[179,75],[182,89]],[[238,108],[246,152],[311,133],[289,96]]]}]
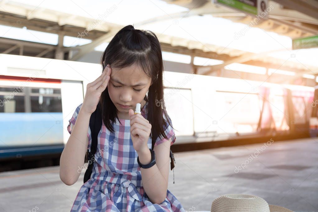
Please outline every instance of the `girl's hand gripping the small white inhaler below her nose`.
[{"label": "girl's hand gripping the small white inhaler below her nose", "polygon": [[141,114],[134,112],[133,109],[129,109],[130,118],[130,134],[133,146],[137,152],[149,151],[147,145],[149,136],[151,133],[151,124]]}]

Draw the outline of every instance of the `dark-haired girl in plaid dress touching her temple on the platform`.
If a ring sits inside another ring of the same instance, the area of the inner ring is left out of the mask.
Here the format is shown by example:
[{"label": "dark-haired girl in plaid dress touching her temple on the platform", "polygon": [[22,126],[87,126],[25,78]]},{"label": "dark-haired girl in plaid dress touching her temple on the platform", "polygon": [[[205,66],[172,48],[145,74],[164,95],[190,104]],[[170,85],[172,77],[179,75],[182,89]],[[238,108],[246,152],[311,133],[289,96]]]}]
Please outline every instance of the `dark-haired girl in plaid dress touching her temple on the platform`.
[{"label": "dark-haired girl in plaid dress touching her temple on the platform", "polygon": [[[101,65],[104,71],[87,85],[83,103],[69,120],[71,135],[60,159],[60,178],[73,185],[91,147],[89,119],[100,103],[103,123],[92,175],[79,189],[71,211],[185,211],[167,189],[170,146],[176,137],[163,101],[156,35],[125,26],[108,44]],[[136,103],[141,103],[141,114],[134,114]],[[155,164],[154,131],[159,135]],[[141,168],[138,161],[142,167],[152,166]]]}]

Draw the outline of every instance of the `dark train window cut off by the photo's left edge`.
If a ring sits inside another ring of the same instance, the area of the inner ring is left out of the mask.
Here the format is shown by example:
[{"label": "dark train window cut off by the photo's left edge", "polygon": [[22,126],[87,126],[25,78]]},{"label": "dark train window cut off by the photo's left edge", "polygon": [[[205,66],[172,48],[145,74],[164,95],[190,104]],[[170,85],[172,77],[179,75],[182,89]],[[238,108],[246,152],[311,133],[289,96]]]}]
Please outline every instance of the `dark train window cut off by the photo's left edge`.
[{"label": "dark train window cut off by the photo's left edge", "polygon": [[0,95],[0,113],[24,113],[24,96]]}]

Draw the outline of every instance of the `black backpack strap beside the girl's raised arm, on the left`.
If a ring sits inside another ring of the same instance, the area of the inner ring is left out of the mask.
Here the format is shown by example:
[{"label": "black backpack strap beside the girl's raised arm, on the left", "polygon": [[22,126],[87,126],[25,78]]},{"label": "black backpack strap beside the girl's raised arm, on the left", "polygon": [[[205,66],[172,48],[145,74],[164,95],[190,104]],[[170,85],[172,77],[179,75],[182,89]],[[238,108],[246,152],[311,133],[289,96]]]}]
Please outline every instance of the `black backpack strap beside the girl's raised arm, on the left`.
[{"label": "black backpack strap beside the girl's raised arm, on the left", "polygon": [[100,110],[100,103],[98,103],[96,110],[92,113],[89,119],[89,127],[91,129],[91,136],[92,136],[92,144],[90,151],[87,149],[85,162],[88,162],[88,167],[84,174],[84,183],[87,182],[92,175],[92,170],[94,167],[95,161],[95,153],[97,151],[97,136],[100,132],[100,128],[102,125],[102,117],[101,117],[101,110]]}]

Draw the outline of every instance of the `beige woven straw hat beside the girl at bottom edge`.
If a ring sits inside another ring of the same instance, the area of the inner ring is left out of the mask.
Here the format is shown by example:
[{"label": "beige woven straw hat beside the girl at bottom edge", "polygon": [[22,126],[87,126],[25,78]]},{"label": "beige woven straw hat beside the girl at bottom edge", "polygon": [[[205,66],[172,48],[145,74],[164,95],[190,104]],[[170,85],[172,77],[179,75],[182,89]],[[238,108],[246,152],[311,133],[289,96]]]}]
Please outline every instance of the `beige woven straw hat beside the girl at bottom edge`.
[{"label": "beige woven straw hat beside the girl at bottom edge", "polygon": [[226,194],[212,202],[211,212],[293,212],[287,208],[268,205],[259,196],[248,194]]}]

